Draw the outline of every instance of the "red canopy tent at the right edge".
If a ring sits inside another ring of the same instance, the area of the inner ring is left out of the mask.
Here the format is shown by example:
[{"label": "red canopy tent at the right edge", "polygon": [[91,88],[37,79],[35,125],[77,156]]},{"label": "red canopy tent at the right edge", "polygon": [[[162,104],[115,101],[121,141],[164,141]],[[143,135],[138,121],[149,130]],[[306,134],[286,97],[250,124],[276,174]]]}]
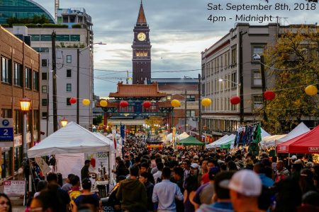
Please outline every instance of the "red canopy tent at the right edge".
[{"label": "red canopy tent at the right edge", "polygon": [[277,146],[277,153],[319,153],[319,125]]}]

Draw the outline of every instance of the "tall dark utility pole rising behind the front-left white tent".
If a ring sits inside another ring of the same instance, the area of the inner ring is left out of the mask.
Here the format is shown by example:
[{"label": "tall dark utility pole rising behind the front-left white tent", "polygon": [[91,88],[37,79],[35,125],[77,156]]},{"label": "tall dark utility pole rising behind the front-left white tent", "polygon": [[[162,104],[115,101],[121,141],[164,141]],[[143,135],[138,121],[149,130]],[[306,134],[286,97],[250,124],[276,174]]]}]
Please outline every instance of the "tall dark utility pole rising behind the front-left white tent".
[{"label": "tall dark utility pole rising behind the front-left white tent", "polygon": [[57,34],[52,32],[52,96],[53,96],[53,131],[57,131],[57,60],[55,57],[55,39]]}]

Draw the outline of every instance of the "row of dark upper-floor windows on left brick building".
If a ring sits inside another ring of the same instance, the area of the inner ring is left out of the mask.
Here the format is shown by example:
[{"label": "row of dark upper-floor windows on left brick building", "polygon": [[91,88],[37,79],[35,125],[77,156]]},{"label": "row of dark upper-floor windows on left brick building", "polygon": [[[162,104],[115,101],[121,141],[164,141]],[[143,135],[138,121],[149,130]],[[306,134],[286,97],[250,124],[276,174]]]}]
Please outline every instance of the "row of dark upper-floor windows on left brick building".
[{"label": "row of dark upper-floor windows on left brick building", "polygon": [[[16,62],[13,62],[13,70],[11,68],[11,59],[6,57],[1,57],[1,82],[11,85],[12,72],[13,72],[13,85],[23,87],[23,77],[24,77],[24,87],[30,90],[39,90],[39,73],[32,71],[29,68],[23,70],[23,66]],[[33,86],[33,87],[32,87]]]}]

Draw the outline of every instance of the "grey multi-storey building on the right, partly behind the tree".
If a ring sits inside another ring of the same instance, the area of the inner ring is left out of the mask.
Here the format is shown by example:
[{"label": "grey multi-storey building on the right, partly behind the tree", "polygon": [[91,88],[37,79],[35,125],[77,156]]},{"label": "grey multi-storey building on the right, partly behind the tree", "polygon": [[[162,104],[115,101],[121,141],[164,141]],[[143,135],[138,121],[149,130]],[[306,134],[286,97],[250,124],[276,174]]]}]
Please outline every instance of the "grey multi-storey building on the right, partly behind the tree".
[{"label": "grey multi-storey building on the right, partly behind the tree", "polygon": [[[201,52],[202,96],[213,101],[210,107],[202,107],[202,126],[207,126],[210,136],[218,137],[235,131],[240,125],[240,114],[243,123],[257,121],[258,115],[254,114],[254,110],[262,107],[262,75],[261,64],[252,55],[263,54],[264,47],[276,41],[278,30],[277,24],[237,23],[235,29]],[[243,88],[242,96],[240,86]],[[234,95],[243,100],[242,113],[240,104],[230,104]]]}]

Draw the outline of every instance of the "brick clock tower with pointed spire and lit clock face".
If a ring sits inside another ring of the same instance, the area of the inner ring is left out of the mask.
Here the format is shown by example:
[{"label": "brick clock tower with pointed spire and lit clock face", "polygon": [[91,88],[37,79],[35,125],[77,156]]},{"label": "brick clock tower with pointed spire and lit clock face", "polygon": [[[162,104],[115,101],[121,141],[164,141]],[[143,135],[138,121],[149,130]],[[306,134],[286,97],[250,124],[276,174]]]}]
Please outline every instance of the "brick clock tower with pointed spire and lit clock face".
[{"label": "brick clock tower with pointed spire and lit clock face", "polygon": [[152,46],[150,45],[150,29],[146,22],[142,1],[133,32],[133,84],[145,84],[145,82],[150,82],[151,78],[150,49]]}]

